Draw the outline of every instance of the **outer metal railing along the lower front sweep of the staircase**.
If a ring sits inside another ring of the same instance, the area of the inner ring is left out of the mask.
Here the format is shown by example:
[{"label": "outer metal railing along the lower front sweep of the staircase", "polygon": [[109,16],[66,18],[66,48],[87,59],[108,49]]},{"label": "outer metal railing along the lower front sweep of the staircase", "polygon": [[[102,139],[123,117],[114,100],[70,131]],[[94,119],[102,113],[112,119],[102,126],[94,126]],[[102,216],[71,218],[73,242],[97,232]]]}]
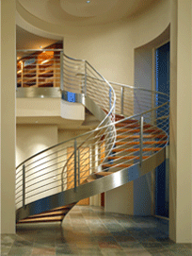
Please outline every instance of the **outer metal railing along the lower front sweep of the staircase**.
[{"label": "outer metal railing along the lower front sweep of the staircase", "polygon": [[[164,118],[156,118],[153,125],[146,122],[152,113],[154,115],[160,109]],[[143,116],[143,134],[145,135],[143,135],[143,147],[139,148],[140,131],[138,128],[141,116]],[[127,122],[127,125],[124,126],[123,122]],[[114,125],[116,131],[111,133]],[[156,130],[157,127],[159,127],[158,130]],[[129,136],[130,138],[127,140]],[[116,139],[115,147],[113,146],[113,139]],[[76,174],[74,173],[74,156],[72,156],[74,141],[76,141],[76,148],[86,142],[76,151]],[[75,187],[75,179],[77,186],[89,174],[105,170],[107,163],[104,162],[105,153],[103,154],[105,144],[113,147],[116,157],[119,157],[118,160],[113,160],[114,166],[110,168],[112,172],[120,166],[123,170],[129,164],[140,162],[141,150],[142,162],[150,158],[168,144],[168,102],[152,110],[123,118],[114,124],[96,128],[66,142],[49,147],[22,162],[16,170],[17,209],[42,197],[61,192],[62,185],[63,191],[72,189]],[[121,154],[122,148],[123,155]],[[107,156],[109,153],[106,152]],[[69,161],[71,156],[71,161]],[[67,168],[63,179],[61,179],[63,166],[66,162],[68,162]]]}]

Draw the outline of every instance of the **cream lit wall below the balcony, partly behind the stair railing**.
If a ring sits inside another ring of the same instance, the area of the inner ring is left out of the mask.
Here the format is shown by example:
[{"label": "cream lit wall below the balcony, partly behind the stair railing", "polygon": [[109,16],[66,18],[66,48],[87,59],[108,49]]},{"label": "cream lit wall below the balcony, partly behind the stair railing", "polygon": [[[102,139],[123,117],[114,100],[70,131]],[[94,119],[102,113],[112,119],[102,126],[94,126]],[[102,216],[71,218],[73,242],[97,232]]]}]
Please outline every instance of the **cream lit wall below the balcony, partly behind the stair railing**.
[{"label": "cream lit wall below the balcony, partly behind the stair railing", "polygon": [[[16,163],[17,165],[30,156],[39,153],[41,150],[57,144],[57,127],[56,126],[24,126],[18,125],[16,129]],[[44,196],[50,196],[60,192],[59,181],[57,180],[57,162],[54,160],[56,153],[49,150],[32,161],[25,163],[25,180],[26,180],[26,200],[25,203],[40,199]],[[45,158],[45,159],[42,159]],[[46,160],[46,163],[44,163]],[[28,165],[28,166],[27,166]],[[49,172],[46,167],[49,167]],[[18,182],[16,185],[16,208],[22,206],[22,174],[23,166],[16,171]],[[50,172],[50,170],[52,172]],[[47,183],[49,186],[47,186]],[[58,187],[56,187],[58,186]],[[47,192],[44,190],[49,189]],[[43,193],[42,193],[43,192]]]}]

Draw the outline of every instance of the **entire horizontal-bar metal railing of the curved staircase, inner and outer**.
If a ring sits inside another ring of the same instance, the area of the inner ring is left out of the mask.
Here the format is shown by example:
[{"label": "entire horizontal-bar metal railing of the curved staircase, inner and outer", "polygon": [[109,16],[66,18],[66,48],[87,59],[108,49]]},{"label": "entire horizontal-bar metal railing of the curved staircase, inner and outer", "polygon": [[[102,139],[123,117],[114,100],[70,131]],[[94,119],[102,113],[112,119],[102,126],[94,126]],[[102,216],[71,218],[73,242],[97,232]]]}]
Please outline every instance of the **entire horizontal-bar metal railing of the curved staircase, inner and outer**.
[{"label": "entire horizontal-bar metal railing of the curved staircase, inner and outer", "polygon": [[[17,166],[17,209],[40,198],[75,189],[91,173],[107,171],[107,163],[114,154],[112,172],[136,163],[142,165],[168,144],[167,94],[115,83],[111,86],[88,62],[66,56],[63,61],[67,61],[64,93],[68,92],[65,91],[68,86],[75,85],[72,93],[84,94],[85,104],[88,99],[88,104],[92,101],[96,111],[101,110],[96,115],[103,119],[97,128],[42,150]],[[116,113],[120,114],[116,121],[115,103]]]}]

